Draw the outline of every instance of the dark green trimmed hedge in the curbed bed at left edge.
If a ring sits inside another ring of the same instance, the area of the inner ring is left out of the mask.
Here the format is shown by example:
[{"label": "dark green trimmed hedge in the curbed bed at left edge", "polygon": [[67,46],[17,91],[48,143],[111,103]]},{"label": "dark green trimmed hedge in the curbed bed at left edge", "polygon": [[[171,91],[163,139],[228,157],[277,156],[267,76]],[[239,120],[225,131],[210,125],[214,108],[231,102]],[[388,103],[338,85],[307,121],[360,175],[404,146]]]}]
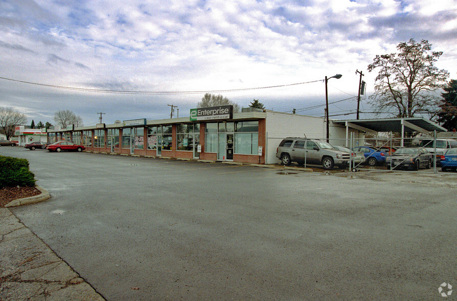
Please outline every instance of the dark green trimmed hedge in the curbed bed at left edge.
[{"label": "dark green trimmed hedge in the curbed bed at left edge", "polygon": [[27,159],[0,156],[0,189],[14,186],[33,187],[35,181]]}]

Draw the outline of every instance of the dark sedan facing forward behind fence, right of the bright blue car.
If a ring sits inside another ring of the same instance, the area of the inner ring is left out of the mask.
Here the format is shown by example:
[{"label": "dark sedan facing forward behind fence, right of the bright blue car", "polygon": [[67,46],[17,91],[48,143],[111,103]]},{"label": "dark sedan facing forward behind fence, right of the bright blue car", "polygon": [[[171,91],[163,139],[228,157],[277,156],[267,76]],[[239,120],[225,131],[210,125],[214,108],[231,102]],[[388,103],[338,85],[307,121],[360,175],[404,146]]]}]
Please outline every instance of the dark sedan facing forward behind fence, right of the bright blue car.
[{"label": "dark sedan facing forward behind fence, right of the bright blue car", "polygon": [[391,157],[387,158],[387,164],[392,162],[392,169],[398,167],[410,167],[418,170],[421,167],[430,168],[433,155],[424,147],[399,148]]}]

